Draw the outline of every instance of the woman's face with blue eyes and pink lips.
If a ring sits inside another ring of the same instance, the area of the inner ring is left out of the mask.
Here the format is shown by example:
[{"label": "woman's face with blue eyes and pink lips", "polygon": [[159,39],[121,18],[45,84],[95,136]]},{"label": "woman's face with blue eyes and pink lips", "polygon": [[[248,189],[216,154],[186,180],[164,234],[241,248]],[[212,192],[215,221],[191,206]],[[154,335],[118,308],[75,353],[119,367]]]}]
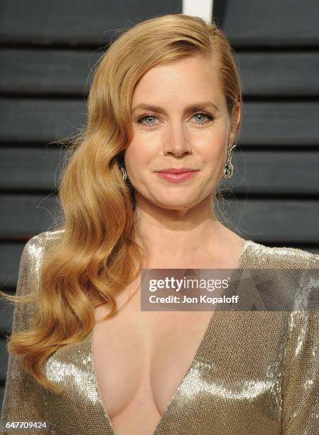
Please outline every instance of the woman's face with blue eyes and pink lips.
[{"label": "woman's face with blue eyes and pink lips", "polygon": [[[213,61],[195,56],[148,70],[135,87],[131,120],[124,161],[136,205],[185,210],[211,201],[237,128],[231,129]],[[167,168],[195,171],[158,174]]]}]

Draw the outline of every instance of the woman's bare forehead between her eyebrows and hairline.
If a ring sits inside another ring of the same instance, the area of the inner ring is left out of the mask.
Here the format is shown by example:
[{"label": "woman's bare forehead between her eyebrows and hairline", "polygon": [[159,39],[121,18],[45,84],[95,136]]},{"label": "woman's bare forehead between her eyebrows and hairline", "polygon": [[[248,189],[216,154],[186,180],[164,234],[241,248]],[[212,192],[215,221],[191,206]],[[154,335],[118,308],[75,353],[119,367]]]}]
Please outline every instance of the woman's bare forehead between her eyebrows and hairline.
[{"label": "woman's bare forehead between her eyebrows and hairline", "polygon": [[216,102],[222,99],[217,67],[212,58],[195,55],[154,66],[137,83],[132,107],[139,102],[188,104],[194,99],[215,99]]}]

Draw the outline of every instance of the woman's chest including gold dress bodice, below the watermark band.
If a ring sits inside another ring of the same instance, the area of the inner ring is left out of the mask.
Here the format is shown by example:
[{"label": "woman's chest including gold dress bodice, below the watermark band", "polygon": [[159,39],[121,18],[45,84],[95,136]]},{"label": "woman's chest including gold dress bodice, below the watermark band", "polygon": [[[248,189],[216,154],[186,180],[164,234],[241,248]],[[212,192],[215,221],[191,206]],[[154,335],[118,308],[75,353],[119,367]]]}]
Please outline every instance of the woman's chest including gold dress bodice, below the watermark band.
[{"label": "woman's chest including gold dress bodice, below the watermark band", "polygon": [[52,433],[65,434],[67,425],[70,435],[280,433],[284,312],[214,312],[205,338],[211,313],[147,314],[98,323],[50,356],[45,375],[63,387],[45,394]]}]

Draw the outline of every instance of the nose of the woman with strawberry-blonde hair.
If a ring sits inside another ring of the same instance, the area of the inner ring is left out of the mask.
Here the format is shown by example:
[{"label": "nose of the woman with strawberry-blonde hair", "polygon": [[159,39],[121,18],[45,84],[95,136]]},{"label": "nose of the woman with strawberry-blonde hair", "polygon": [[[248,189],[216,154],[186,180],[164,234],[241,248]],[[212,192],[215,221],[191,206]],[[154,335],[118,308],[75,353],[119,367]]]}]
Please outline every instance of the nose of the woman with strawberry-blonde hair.
[{"label": "nose of the woman with strawberry-blonde hair", "polygon": [[188,140],[188,135],[185,126],[180,121],[171,122],[166,131],[164,140],[163,152],[164,155],[174,154],[176,157],[183,156],[185,153],[190,153],[192,147]]}]

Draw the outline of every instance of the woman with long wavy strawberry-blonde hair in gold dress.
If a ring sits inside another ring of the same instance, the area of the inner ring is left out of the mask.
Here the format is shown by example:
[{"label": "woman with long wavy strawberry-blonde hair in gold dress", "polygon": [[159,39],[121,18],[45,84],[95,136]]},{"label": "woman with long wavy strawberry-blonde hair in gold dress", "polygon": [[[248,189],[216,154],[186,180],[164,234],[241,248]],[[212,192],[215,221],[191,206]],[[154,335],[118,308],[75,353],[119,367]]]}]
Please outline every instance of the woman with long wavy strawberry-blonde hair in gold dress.
[{"label": "woman with long wavy strawberry-blonde hair in gold dress", "polygon": [[142,267],[318,269],[318,255],[217,219],[241,107],[229,43],[200,18],[151,18],[102,56],[60,184],[63,225],[23,250],[3,421],[59,435],[319,434],[318,311],[139,305]]}]

